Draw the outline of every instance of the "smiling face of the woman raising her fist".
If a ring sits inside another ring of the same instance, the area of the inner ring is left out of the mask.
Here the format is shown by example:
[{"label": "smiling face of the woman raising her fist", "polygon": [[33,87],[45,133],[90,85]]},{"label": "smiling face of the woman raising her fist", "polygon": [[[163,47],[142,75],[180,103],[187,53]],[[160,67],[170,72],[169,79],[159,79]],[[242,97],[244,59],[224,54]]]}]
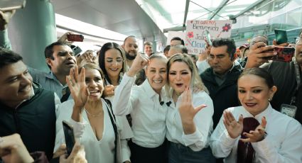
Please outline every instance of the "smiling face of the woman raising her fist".
[{"label": "smiling face of the woman raising her fist", "polygon": [[161,58],[151,59],[146,69],[146,77],[152,89],[160,94],[167,81],[166,60]]}]

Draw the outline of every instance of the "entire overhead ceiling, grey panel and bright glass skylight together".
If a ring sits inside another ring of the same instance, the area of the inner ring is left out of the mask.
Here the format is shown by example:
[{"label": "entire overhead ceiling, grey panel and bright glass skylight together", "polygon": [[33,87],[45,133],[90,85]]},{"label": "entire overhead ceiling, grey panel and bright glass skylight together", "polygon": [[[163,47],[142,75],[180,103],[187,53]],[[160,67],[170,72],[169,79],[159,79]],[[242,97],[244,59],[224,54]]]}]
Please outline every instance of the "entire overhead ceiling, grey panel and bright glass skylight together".
[{"label": "entire overhead ceiling, grey panel and bright glass skylight together", "polygon": [[[188,20],[228,20],[289,0],[50,0],[55,13],[141,40],[166,43]],[[121,41],[121,40],[119,40]]]}]

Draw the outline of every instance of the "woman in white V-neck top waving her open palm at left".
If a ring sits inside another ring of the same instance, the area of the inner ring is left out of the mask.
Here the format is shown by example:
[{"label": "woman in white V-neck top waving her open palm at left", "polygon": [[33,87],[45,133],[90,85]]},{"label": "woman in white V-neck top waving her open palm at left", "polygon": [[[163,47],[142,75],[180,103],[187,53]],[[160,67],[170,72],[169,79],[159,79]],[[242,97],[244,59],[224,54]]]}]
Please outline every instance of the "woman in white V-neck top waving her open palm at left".
[{"label": "woman in white V-neck top waving her open palm at left", "polygon": [[[125,132],[119,135],[124,128],[120,128],[109,104],[101,98],[103,79],[102,70],[96,64],[85,64],[80,74],[77,67],[70,69],[67,83],[73,100],[65,101],[58,108],[55,150],[65,142],[62,120],[68,120],[75,137],[80,138],[85,147],[88,162],[129,162],[130,153],[125,139],[131,138],[131,131],[129,135]],[[122,148],[119,147],[119,136]]]}]

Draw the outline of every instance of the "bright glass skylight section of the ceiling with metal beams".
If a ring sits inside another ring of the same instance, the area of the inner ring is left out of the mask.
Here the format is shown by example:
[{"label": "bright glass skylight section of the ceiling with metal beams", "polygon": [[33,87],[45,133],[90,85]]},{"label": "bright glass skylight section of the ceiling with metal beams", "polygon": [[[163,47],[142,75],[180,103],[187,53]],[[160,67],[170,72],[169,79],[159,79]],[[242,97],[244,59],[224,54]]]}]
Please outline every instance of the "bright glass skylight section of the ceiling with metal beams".
[{"label": "bright glass skylight section of the ceiling with metal beams", "polygon": [[163,32],[185,30],[188,20],[229,20],[265,0],[136,0]]}]

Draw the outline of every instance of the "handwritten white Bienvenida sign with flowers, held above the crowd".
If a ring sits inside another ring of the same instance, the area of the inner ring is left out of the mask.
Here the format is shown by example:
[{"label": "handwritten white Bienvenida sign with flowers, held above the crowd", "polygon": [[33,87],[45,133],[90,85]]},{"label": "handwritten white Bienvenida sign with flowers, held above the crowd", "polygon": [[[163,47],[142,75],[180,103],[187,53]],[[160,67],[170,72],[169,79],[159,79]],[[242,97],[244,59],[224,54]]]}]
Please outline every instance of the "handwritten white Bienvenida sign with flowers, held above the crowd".
[{"label": "handwritten white Bienvenida sign with flowers, held above the crowd", "polygon": [[198,55],[205,52],[206,30],[211,38],[230,38],[232,21],[187,21],[185,34],[185,47],[188,53]]}]

